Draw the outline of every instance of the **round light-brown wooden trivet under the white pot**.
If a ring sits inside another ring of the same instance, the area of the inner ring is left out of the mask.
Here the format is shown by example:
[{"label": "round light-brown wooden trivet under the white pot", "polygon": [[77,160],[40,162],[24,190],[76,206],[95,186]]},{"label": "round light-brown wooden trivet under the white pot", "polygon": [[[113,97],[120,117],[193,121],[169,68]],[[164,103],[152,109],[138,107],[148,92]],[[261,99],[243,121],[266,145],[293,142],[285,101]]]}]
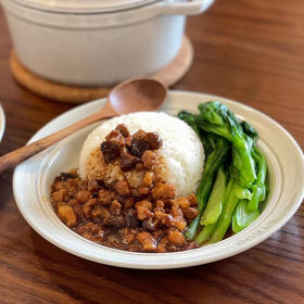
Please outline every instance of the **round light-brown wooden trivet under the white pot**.
[{"label": "round light-brown wooden trivet under the white pot", "polygon": [[[149,78],[156,79],[169,87],[188,72],[193,59],[193,48],[188,37],[182,38],[181,48],[176,58]],[[31,92],[61,102],[83,103],[107,96],[111,87],[76,87],[53,83],[28,71],[18,61],[14,50],[10,54],[10,68],[15,80]]]}]

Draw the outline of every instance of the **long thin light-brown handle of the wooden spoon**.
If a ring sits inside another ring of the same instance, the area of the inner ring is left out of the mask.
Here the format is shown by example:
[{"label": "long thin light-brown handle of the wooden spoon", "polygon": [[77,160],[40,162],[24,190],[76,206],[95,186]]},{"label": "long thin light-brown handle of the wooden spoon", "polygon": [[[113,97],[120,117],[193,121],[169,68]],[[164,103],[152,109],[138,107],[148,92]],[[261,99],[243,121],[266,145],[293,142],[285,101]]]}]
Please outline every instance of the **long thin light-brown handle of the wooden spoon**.
[{"label": "long thin light-brown handle of the wooden spoon", "polygon": [[67,126],[52,135],[49,135],[42,139],[34,141],[27,145],[24,145],[13,152],[10,152],[0,157],[0,173],[9,169],[11,167],[16,166],[22,161],[33,156],[34,154],[49,148],[50,145],[54,144],[55,142],[60,141],[61,139],[69,136],[71,134],[93,124],[102,118],[110,118],[117,115],[111,105],[106,103],[104,109],[96,114],[92,114],[77,123],[74,123],[71,126]]}]

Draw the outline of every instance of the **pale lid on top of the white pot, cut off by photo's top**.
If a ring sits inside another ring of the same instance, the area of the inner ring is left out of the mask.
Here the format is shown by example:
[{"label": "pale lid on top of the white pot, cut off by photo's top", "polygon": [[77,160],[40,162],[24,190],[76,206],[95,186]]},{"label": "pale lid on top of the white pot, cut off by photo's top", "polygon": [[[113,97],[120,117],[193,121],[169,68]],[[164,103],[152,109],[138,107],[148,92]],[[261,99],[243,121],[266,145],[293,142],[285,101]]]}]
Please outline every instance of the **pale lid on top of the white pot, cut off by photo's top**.
[{"label": "pale lid on top of the white pot, cut off by photo's top", "polygon": [[160,2],[162,0],[13,0],[21,5],[49,12],[106,13]]}]

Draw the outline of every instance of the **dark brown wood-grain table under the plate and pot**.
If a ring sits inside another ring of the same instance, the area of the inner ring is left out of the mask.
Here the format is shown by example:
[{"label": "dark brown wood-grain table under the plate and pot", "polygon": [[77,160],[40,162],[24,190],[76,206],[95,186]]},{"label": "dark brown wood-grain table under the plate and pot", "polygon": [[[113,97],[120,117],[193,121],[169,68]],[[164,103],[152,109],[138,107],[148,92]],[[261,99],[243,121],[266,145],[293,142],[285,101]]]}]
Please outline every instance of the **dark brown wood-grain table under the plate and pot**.
[{"label": "dark brown wood-grain table under the plate and pot", "polygon": [[[71,109],[18,87],[0,18],[0,101],[4,154]],[[187,31],[195,58],[174,88],[210,92],[254,106],[303,148],[304,1],[218,0]],[[176,270],[129,270],[73,256],[38,236],[20,214],[12,172],[0,176],[1,303],[304,303],[304,207],[262,244],[225,261]]]}]

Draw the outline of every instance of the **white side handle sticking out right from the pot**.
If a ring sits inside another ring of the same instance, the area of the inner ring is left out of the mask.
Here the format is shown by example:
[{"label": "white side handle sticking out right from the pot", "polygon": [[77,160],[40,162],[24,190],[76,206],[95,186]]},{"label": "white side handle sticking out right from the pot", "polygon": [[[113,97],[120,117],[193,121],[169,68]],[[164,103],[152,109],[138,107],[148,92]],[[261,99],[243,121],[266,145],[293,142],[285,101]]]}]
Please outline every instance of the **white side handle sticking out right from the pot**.
[{"label": "white side handle sticking out right from the pot", "polygon": [[175,0],[164,1],[160,5],[160,12],[166,15],[197,15],[206,11],[214,0]]}]

